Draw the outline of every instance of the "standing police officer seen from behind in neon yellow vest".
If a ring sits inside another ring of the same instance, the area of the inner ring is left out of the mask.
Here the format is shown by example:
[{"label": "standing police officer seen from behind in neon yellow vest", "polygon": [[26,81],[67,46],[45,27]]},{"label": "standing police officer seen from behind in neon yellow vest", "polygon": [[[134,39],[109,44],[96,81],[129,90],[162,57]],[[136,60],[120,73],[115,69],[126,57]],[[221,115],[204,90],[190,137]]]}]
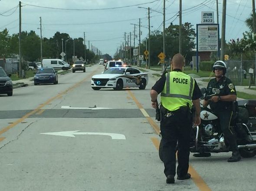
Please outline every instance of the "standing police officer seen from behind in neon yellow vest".
[{"label": "standing police officer seen from behind in neon yellow vest", "polygon": [[[184,57],[175,54],[172,61],[173,71],[163,75],[152,87],[151,106],[157,108],[157,97],[161,93],[161,144],[163,146],[164,174],[166,183],[174,183],[176,174],[177,146],[177,179],[190,178],[189,147],[192,129],[191,107],[195,107],[195,125],[200,124],[200,100],[202,96],[196,81],[182,72]],[[178,145],[177,145],[178,141]]]}]

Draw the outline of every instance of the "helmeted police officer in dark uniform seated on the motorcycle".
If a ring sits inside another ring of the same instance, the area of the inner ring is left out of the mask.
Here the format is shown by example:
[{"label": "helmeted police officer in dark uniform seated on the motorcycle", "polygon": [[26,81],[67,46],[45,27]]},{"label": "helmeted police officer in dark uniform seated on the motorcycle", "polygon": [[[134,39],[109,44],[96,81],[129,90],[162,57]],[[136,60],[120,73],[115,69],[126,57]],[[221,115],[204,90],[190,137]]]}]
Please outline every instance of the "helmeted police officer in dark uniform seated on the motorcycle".
[{"label": "helmeted police officer in dark uniform seated on the motorcycle", "polygon": [[230,121],[233,114],[233,102],[236,101],[236,88],[232,81],[225,76],[226,64],[218,60],[213,64],[213,72],[215,78],[210,80],[207,86],[207,92],[212,94],[212,89],[220,89],[220,94],[213,96],[209,101],[204,100],[203,106],[210,108],[218,116],[220,127],[224,134],[225,140],[228,141],[232,156],[227,160],[228,162],[237,162],[241,159],[235,134],[230,129]]}]

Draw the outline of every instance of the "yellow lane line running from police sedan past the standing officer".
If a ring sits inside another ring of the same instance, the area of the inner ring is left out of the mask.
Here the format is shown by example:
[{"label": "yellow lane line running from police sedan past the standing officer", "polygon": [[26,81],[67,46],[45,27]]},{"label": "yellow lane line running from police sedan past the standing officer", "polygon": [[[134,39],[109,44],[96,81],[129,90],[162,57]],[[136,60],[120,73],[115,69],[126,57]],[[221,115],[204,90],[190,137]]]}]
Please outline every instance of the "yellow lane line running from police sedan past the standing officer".
[{"label": "yellow lane line running from police sedan past the standing officer", "polygon": [[[142,107],[142,105],[140,104],[140,102],[138,102],[138,100],[136,99],[136,97],[134,96],[134,94],[131,92],[131,90],[127,90],[128,94],[131,96],[131,98],[135,101],[136,105],[138,106],[138,108],[144,109]],[[142,112],[142,111],[141,111]],[[144,110],[144,112],[146,112]],[[147,112],[146,112],[147,113]],[[144,113],[142,112],[142,114],[144,115]],[[147,114],[148,115],[148,114]],[[144,115],[145,116],[145,115]],[[149,116],[149,115],[148,115]],[[156,124],[152,118],[150,117],[146,117],[146,119],[148,120],[149,124],[151,124],[151,126],[154,128],[154,131],[159,134],[160,128],[158,127],[158,124]],[[151,137],[151,141],[153,142],[154,146],[157,148],[157,150],[159,150],[159,140],[155,137]],[[195,185],[197,185],[197,187],[199,188],[200,191],[211,191],[211,189],[208,187],[208,185],[206,184],[206,182],[203,180],[203,178],[200,177],[200,175],[197,173],[197,171],[193,168],[193,166],[189,166],[188,172],[191,174],[192,180],[194,181]]]}]

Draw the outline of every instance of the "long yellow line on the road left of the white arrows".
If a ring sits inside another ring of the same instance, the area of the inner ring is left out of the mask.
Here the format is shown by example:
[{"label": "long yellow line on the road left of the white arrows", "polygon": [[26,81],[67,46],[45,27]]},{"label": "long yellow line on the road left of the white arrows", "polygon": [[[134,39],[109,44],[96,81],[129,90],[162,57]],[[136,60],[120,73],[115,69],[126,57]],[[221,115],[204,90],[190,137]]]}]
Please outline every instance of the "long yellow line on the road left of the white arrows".
[{"label": "long yellow line on the road left of the white arrows", "polygon": [[[74,86],[69,87],[68,89],[66,89],[65,91],[59,93],[57,96],[54,96],[53,98],[48,99],[46,102],[44,102],[43,104],[40,104],[36,109],[34,109],[33,111],[27,113],[26,115],[24,115],[22,118],[14,121],[12,124],[8,125],[7,127],[4,127],[3,129],[1,129],[0,131],[0,135],[5,133],[6,131],[8,131],[9,129],[15,127],[17,124],[20,124],[21,122],[23,122],[26,118],[30,117],[31,115],[39,112],[44,106],[46,106],[47,104],[49,104],[50,102],[52,102],[53,100],[61,97],[62,95],[66,94],[67,92],[69,92],[72,89],[75,89],[77,86],[79,86],[80,84],[82,84],[83,82],[85,82],[86,80],[88,80],[89,78],[91,78],[94,73],[98,70],[98,68],[96,70],[94,70],[92,72],[92,75],[87,76],[85,79],[83,79],[82,81],[80,81],[79,83],[76,83]],[[2,141],[4,139],[4,137],[0,137],[0,141]]]}]

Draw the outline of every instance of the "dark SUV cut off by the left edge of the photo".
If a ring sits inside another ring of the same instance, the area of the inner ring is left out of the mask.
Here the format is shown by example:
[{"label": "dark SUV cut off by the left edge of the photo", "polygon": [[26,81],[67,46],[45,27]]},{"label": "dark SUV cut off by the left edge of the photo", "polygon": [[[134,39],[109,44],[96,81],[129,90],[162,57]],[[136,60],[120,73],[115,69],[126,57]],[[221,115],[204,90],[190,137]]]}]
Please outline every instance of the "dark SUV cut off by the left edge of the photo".
[{"label": "dark SUV cut off by the left edge of the photo", "polygon": [[12,74],[7,75],[3,70],[3,67],[0,67],[0,94],[6,94],[8,96],[13,95],[13,82],[10,79]]}]

